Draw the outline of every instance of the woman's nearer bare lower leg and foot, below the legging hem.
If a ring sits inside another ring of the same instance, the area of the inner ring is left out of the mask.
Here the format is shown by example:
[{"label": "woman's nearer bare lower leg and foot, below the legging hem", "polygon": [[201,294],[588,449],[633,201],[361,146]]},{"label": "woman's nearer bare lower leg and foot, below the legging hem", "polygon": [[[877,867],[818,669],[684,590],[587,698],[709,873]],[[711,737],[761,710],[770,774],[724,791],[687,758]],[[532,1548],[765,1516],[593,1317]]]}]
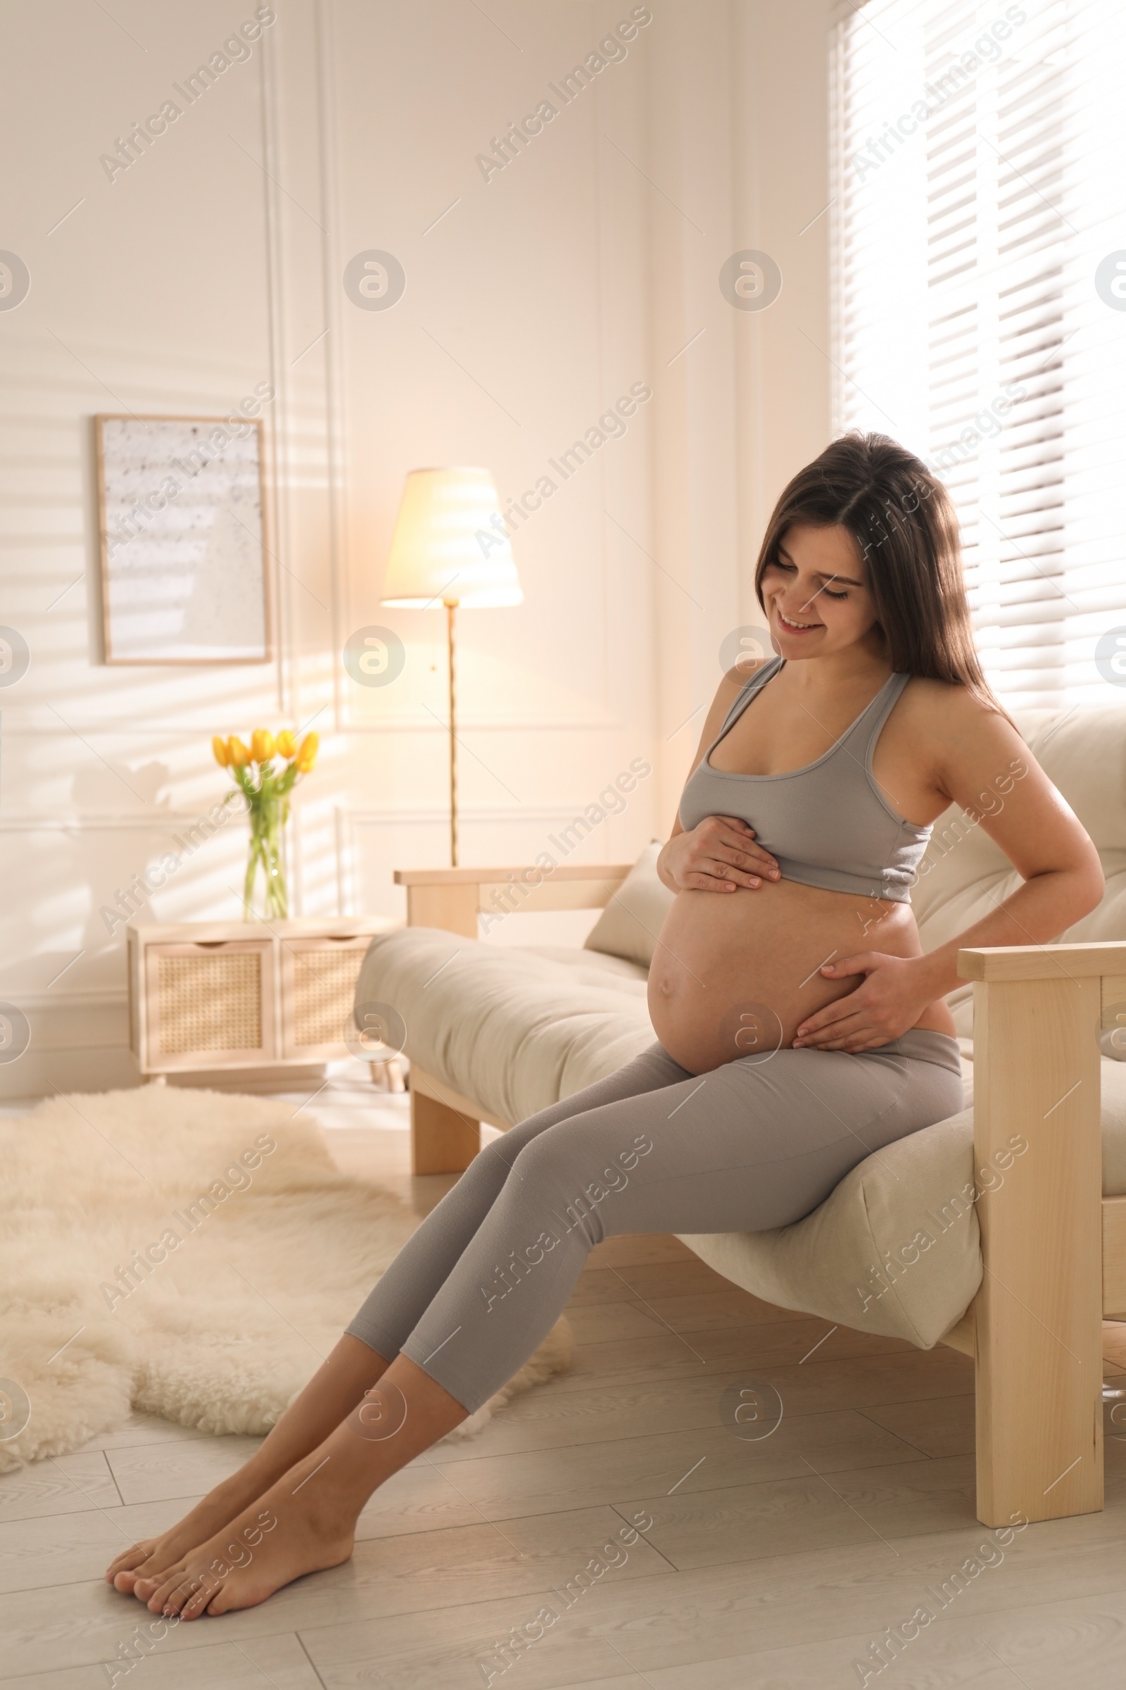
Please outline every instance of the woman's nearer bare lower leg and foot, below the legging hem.
[{"label": "woman's nearer bare lower leg and foot, below the legging hem", "polygon": [[302,1573],[339,1567],[371,1492],[464,1418],[461,1403],[398,1355],[317,1448],[169,1568],[149,1609],[181,1619],[226,1614],[265,1602]]}]

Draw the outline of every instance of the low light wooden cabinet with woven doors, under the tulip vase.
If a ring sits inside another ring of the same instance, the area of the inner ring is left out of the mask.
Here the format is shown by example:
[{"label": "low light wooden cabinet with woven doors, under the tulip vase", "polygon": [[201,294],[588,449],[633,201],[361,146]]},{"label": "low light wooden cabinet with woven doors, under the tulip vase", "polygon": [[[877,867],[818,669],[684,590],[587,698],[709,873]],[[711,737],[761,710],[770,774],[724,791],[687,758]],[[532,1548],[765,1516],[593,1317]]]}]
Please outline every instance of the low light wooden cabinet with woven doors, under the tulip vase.
[{"label": "low light wooden cabinet with woven doors, under the tulip vase", "polygon": [[[309,1068],[349,1055],[356,977],[387,916],[133,923],[128,1041],[142,1075]],[[395,1085],[393,1063],[373,1063]],[[402,1088],[402,1080],[398,1080]]]}]

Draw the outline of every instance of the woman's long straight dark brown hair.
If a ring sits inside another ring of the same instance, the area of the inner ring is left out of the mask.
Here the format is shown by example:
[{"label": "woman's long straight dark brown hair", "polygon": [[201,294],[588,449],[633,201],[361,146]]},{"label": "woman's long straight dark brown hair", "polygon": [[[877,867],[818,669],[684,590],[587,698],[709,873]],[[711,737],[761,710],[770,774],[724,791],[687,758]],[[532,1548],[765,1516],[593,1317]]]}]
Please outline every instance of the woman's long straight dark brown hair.
[{"label": "woman's long straight dark brown hair", "polygon": [[755,570],[760,605],[763,570],[778,561],[793,522],[853,536],[896,673],[964,686],[1006,715],[974,647],[950,495],[913,453],[886,434],[851,433],[798,470],[766,524]]}]

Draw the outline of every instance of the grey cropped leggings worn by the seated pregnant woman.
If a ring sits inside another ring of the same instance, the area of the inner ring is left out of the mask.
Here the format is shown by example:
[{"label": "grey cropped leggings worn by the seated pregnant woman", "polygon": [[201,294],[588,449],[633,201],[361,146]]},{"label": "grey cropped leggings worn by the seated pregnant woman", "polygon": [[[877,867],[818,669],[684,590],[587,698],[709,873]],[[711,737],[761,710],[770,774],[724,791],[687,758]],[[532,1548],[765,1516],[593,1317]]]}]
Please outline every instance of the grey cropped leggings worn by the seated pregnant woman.
[{"label": "grey cropped leggings worn by the seated pregnant woman", "polygon": [[961,1109],[945,1033],[706,1075],[653,1044],[488,1144],[348,1332],[387,1360],[402,1350],[473,1413],[550,1332],[603,1239],[788,1225],[873,1151]]}]

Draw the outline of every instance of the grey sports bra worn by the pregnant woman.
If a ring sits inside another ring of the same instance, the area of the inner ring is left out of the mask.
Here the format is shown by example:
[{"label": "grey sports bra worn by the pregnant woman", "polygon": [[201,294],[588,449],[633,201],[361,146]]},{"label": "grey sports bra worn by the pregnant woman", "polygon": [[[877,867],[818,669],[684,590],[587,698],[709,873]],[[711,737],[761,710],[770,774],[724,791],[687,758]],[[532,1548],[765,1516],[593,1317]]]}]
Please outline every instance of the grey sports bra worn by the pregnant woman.
[{"label": "grey sports bra worn by the pregnant woman", "polygon": [[690,831],[706,816],[738,816],[778,859],[785,880],[910,904],[930,828],[896,816],[871,772],[880,732],[910,676],[890,676],[836,745],[804,769],[783,774],[714,769],[716,745],[780,668],[782,657],[771,657],[736,698],[689,776],[680,798],[680,826]]}]

